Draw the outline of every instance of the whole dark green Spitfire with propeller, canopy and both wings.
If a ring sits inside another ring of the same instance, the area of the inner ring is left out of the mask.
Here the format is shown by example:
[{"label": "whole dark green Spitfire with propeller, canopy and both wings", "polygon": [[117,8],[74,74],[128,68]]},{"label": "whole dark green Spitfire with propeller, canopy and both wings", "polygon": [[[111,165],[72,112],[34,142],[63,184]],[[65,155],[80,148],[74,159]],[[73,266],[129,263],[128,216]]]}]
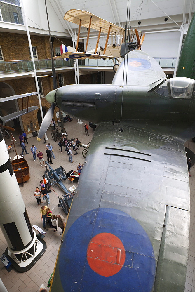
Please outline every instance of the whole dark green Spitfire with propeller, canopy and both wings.
[{"label": "whole dark green Spitfire with propeller, canopy and both wings", "polygon": [[184,142],[194,136],[195,81],[167,79],[153,58],[134,50],[112,84],[66,85],[46,99],[51,108],[38,140],[55,106],[97,124],[50,291],[184,291],[190,207]]}]

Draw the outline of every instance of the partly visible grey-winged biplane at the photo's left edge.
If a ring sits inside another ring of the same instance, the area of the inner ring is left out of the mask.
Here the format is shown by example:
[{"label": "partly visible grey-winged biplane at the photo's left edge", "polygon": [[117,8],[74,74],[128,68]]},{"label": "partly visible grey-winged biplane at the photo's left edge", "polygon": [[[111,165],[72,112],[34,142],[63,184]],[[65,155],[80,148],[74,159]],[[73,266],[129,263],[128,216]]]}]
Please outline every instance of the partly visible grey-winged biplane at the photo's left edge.
[{"label": "partly visible grey-winged biplane at the photo's left edge", "polygon": [[[38,94],[38,92],[30,92],[30,93],[24,93],[24,94],[20,94],[20,95],[12,95],[12,96],[8,96],[8,97],[5,97],[5,98],[0,98],[0,103],[1,102],[6,102],[6,101],[9,101],[9,100],[15,100],[15,99],[18,99],[18,98],[22,98],[22,110],[20,110],[19,112],[13,112],[13,113],[8,114],[8,115],[6,115],[4,117],[0,116],[0,124],[2,125],[1,128],[4,126],[4,128],[6,129],[6,127],[7,127],[7,126],[5,126],[6,123],[8,123],[8,122],[10,122],[10,121],[12,121],[12,120],[14,120],[14,119],[16,119],[18,117],[21,117],[24,114],[28,114],[29,112],[32,112],[35,109],[38,109],[38,107],[36,105],[28,107],[29,96],[35,95],[35,94]],[[26,109],[23,109],[23,98],[24,97],[27,97],[27,108]],[[13,128],[11,128],[11,131],[13,131],[12,129]]]}]

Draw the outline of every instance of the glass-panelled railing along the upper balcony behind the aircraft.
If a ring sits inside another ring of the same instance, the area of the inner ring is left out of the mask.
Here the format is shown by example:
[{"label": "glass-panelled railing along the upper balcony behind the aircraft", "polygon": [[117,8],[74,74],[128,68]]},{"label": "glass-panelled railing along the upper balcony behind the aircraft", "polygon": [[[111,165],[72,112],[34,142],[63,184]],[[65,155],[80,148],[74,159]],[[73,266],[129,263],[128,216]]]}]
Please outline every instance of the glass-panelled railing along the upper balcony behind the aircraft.
[{"label": "glass-panelled railing along the upper balcony behind the aircraft", "polygon": [[[176,58],[154,58],[162,68],[175,68]],[[51,60],[34,60],[36,70],[51,69]],[[74,60],[54,59],[55,68],[72,67]],[[113,67],[112,60],[79,60],[79,66],[82,67]],[[32,60],[25,61],[1,61],[0,74],[20,73],[33,71]]]}]

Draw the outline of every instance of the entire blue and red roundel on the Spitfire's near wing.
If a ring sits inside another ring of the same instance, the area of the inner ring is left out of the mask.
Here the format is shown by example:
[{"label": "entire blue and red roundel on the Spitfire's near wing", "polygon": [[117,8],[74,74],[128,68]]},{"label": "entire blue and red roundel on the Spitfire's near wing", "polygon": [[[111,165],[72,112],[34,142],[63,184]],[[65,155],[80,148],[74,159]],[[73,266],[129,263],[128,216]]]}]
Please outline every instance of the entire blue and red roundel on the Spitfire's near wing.
[{"label": "entire blue and red roundel on the Spitfire's near wing", "polygon": [[[85,292],[128,292],[144,287],[150,292],[156,260],[137,220],[116,209],[99,208],[71,225],[60,248],[59,266],[65,291],[79,292],[84,287]],[[75,270],[76,276],[71,272]]]}]

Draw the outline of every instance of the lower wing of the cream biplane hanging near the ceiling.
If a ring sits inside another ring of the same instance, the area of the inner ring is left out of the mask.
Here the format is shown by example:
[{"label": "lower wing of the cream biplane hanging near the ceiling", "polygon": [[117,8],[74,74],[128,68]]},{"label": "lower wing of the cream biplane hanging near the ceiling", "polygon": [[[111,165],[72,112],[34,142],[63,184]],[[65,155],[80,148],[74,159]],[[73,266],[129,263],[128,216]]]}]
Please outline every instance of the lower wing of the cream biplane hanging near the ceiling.
[{"label": "lower wing of the cream biplane hanging near the ceiling", "polygon": [[84,60],[84,59],[114,59],[116,57],[83,53],[83,52],[65,52],[61,56],[53,57],[53,59],[62,59],[62,58]]}]

